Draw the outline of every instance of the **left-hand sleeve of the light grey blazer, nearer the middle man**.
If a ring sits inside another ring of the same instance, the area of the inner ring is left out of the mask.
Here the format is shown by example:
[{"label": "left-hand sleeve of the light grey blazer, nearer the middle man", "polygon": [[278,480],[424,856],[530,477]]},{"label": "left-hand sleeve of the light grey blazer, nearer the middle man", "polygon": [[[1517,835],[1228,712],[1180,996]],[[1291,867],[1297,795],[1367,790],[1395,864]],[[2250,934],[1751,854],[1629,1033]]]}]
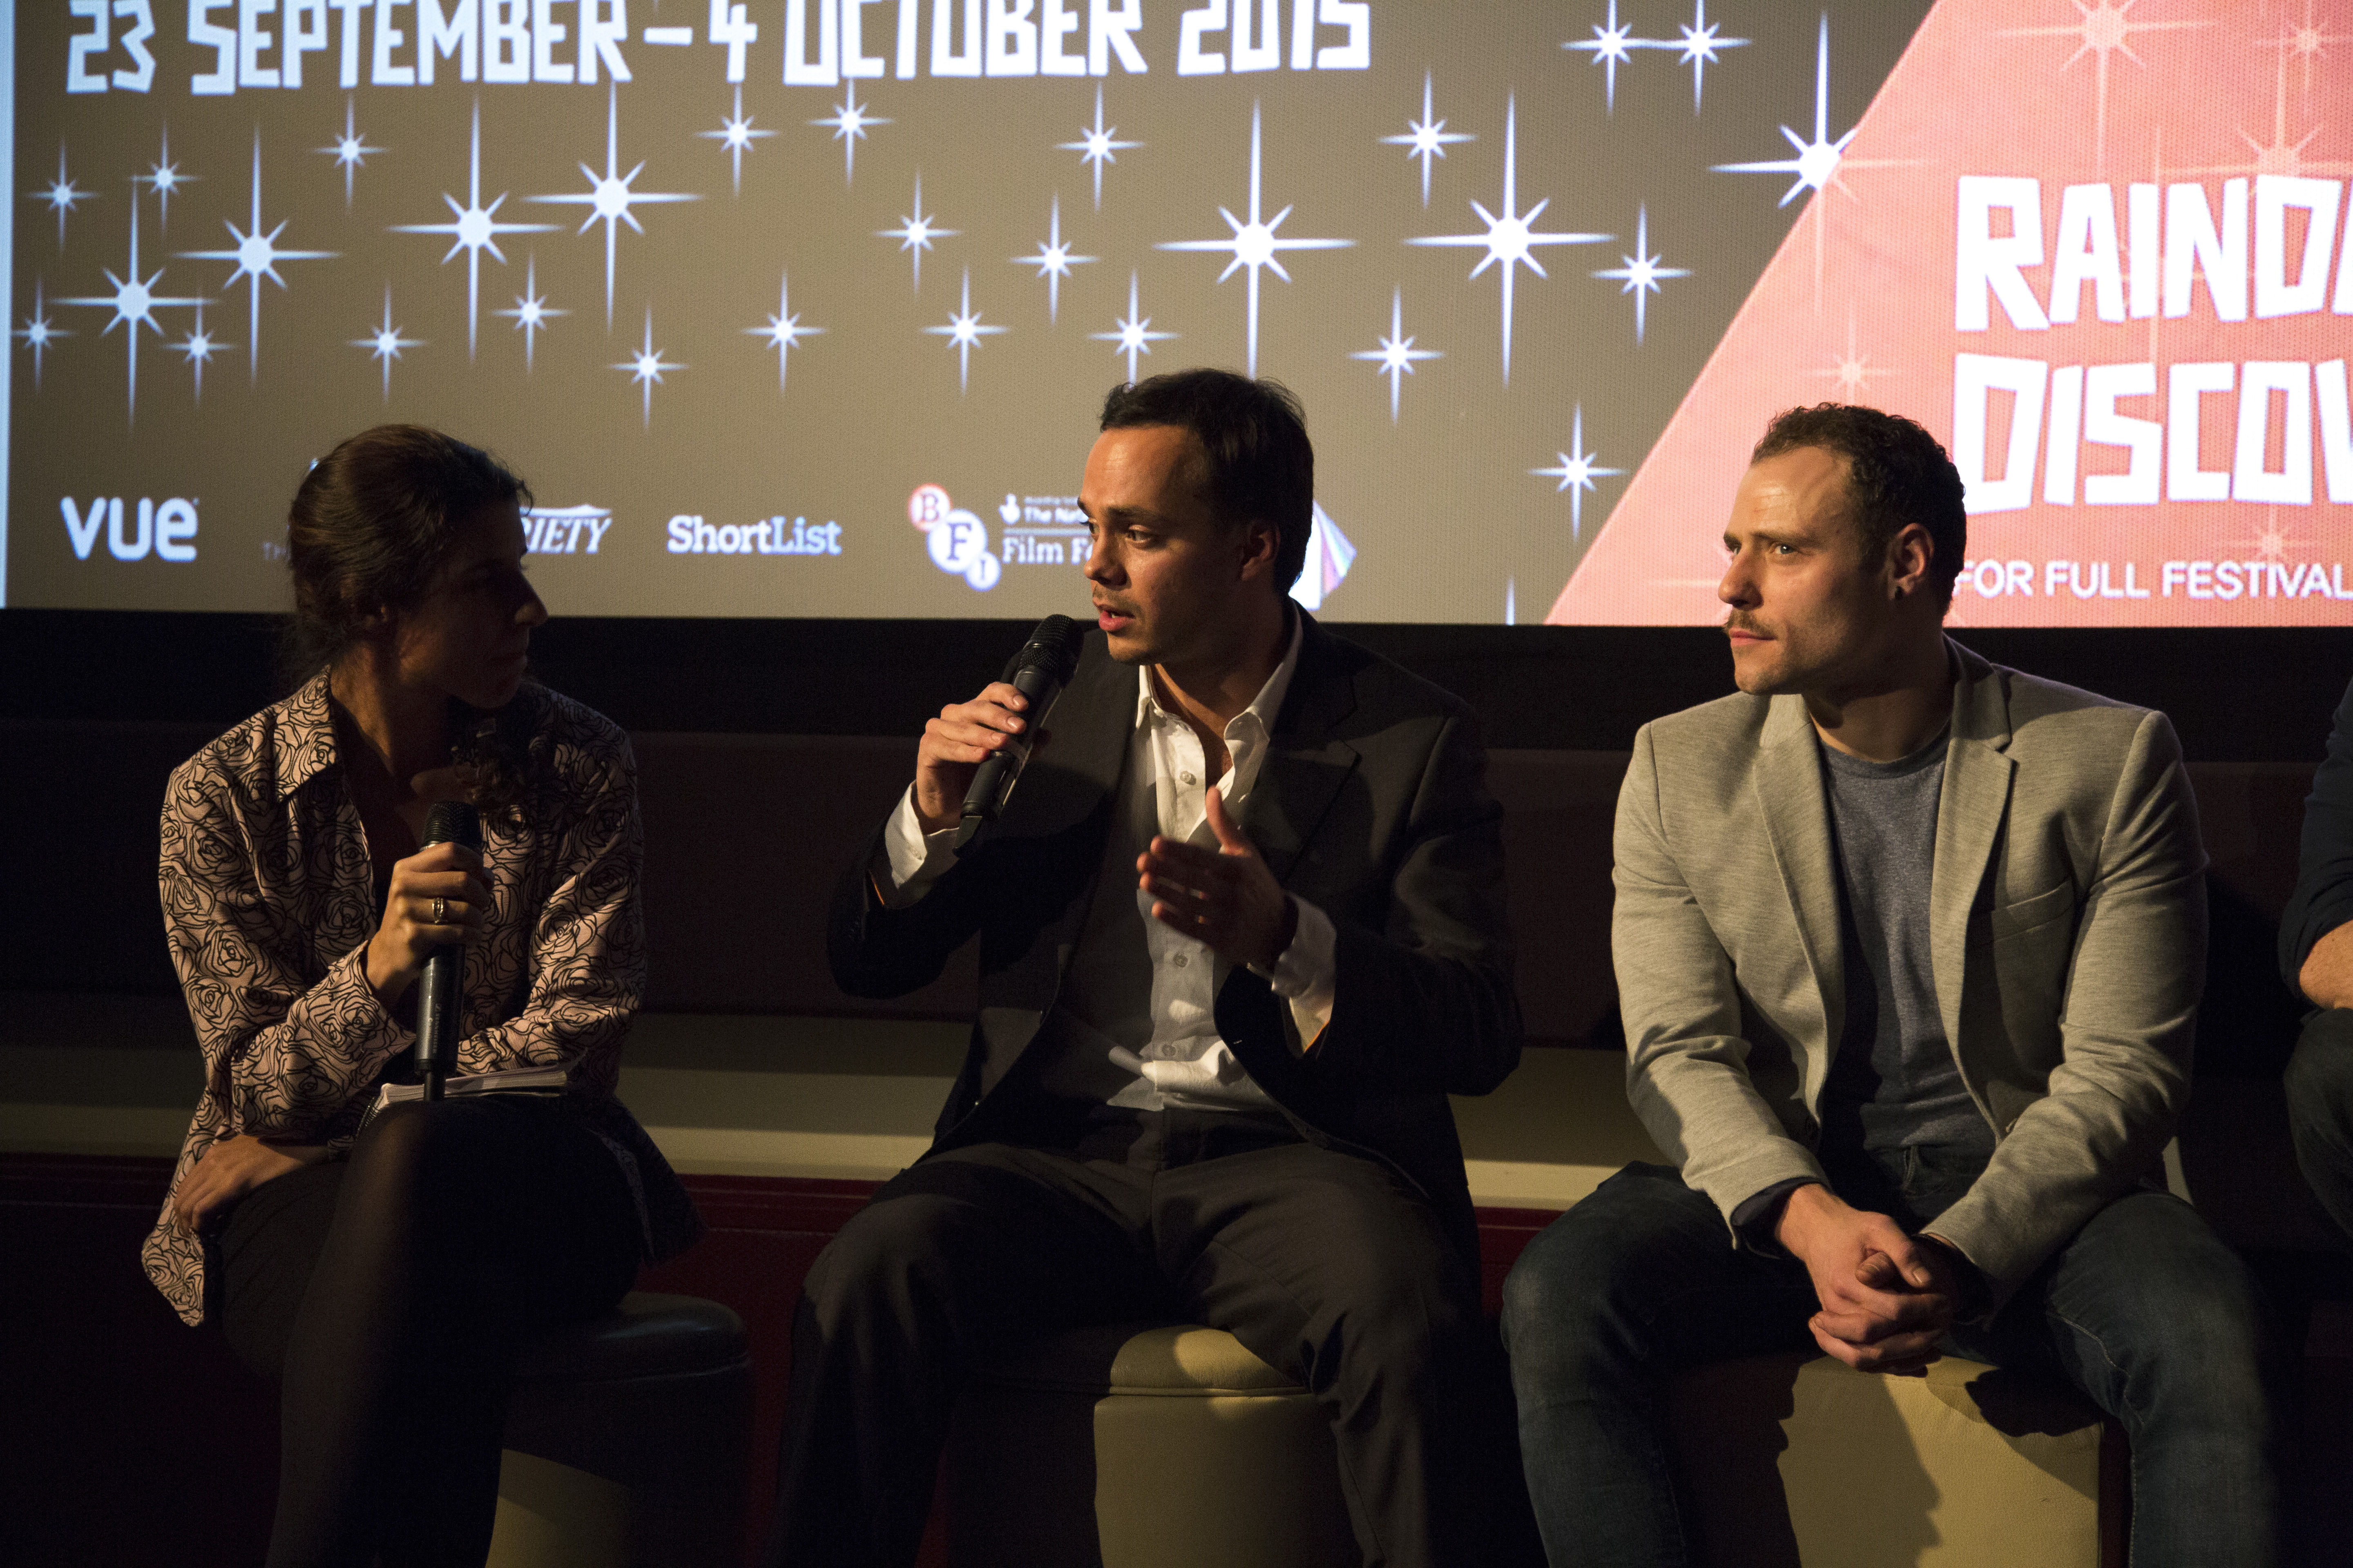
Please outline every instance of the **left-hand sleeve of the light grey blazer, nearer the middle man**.
[{"label": "left-hand sleeve of the light grey blazer, nearer the middle man", "polygon": [[1609,957],[1626,1020],[1626,1098],[1642,1128],[1727,1227],[1734,1208],[1777,1182],[1826,1182],[1748,1079],[1732,954],[1668,844],[1649,726],[1635,733],[1619,785],[1612,858]]}]

